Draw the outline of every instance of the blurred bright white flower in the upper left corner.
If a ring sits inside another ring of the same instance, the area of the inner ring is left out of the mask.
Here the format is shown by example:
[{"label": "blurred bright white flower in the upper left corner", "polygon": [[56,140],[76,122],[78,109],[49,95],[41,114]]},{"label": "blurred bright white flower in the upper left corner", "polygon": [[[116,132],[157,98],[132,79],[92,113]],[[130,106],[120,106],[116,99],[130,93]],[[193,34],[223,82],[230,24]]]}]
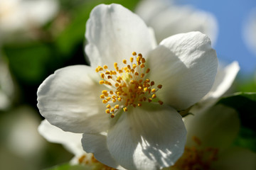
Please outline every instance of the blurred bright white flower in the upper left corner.
[{"label": "blurred bright white flower in the upper left corner", "polygon": [[16,32],[29,33],[52,19],[57,11],[57,0],[1,0],[0,37],[9,38]]}]

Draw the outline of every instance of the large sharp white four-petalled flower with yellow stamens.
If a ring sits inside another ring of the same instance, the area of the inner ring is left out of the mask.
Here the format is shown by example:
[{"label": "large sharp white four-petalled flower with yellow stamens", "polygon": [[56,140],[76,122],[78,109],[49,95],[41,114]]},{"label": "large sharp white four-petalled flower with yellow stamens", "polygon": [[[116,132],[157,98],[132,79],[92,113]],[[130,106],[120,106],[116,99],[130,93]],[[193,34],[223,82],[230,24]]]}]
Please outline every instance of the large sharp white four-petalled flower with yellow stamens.
[{"label": "large sharp white four-petalled flower with yellow stamens", "polygon": [[154,47],[145,23],[117,4],[92,10],[86,38],[91,66],[65,67],[43,81],[40,113],[64,131],[83,133],[85,152],[108,166],[174,164],[186,142],[177,110],[205,96],[217,72],[210,39],[192,32]]}]

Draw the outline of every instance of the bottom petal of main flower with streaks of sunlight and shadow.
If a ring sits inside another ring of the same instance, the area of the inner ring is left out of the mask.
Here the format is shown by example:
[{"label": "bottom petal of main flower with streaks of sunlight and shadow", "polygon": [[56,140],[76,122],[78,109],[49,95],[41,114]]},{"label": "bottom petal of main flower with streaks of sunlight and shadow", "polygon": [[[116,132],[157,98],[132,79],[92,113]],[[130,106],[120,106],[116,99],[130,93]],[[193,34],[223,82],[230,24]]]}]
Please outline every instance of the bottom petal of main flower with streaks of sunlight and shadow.
[{"label": "bottom petal of main flower with streaks of sunlight and shadow", "polygon": [[109,130],[107,146],[126,169],[160,169],[183,154],[186,129],[181,115],[169,106],[129,108]]}]

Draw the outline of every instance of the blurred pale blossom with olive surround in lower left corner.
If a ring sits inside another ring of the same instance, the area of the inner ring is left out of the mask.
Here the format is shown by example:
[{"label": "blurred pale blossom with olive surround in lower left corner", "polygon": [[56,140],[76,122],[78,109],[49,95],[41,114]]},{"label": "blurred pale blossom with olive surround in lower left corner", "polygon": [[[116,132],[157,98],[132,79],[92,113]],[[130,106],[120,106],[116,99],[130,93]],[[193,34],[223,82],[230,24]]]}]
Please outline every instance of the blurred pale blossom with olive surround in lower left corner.
[{"label": "blurred pale blossom with olive surround in lower left corner", "polygon": [[38,169],[46,144],[37,131],[39,121],[36,111],[28,106],[1,113],[1,169]]}]

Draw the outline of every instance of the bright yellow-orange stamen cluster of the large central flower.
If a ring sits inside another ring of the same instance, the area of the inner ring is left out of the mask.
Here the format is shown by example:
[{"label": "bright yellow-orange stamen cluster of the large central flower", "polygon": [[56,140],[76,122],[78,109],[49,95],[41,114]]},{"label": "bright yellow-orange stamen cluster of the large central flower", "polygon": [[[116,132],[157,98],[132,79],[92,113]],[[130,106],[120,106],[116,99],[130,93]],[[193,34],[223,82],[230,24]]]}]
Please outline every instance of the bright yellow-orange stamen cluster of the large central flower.
[{"label": "bright yellow-orange stamen cluster of the large central flower", "polygon": [[107,104],[106,113],[111,113],[111,118],[122,109],[128,111],[129,106],[136,108],[142,106],[143,102],[158,102],[156,92],[161,89],[162,85],[156,87],[154,81],[146,78],[146,74],[150,72],[149,68],[145,67],[146,60],[142,54],[132,52],[130,63],[127,60],[122,61],[124,67],[119,68],[117,62],[114,62],[114,69],[109,70],[107,65],[97,67],[96,72],[100,72],[102,80],[100,84],[105,85],[110,91],[104,90],[100,95],[102,103]]}]

